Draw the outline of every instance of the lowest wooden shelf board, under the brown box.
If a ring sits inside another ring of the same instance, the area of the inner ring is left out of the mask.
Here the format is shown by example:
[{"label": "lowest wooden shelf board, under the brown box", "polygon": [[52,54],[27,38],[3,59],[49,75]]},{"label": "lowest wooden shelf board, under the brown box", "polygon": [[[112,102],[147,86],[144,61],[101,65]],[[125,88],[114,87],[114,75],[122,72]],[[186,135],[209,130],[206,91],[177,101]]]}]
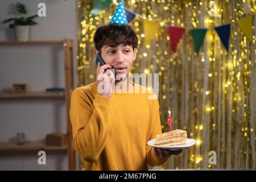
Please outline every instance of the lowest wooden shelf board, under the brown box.
[{"label": "lowest wooden shelf board, under the brown box", "polygon": [[42,142],[28,142],[23,145],[10,142],[0,142],[0,151],[60,151],[67,150],[67,146],[47,146]]}]

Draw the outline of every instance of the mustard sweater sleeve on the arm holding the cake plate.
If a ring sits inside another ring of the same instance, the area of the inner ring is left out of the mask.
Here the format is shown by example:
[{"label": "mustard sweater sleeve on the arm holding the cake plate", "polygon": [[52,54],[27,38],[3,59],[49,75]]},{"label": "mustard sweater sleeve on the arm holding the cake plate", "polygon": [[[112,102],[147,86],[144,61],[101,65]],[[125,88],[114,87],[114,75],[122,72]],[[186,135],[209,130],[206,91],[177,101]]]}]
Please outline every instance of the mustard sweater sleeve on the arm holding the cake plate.
[{"label": "mustard sweater sleeve on the arm holding the cake plate", "polygon": [[[151,123],[151,133],[148,140],[155,139],[156,135],[162,133],[161,129],[161,122],[160,122],[160,115],[159,115],[159,103],[158,100],[154,100],[154,110],[152,113],[152,120]],[[146,152],[147,152],[147,163],[148,165],[154,167],[154,166],[160,166],[163,163],[166,162],[168,158],[160,159],[158,156],[155,155],[154,147],[146,146]]]}]

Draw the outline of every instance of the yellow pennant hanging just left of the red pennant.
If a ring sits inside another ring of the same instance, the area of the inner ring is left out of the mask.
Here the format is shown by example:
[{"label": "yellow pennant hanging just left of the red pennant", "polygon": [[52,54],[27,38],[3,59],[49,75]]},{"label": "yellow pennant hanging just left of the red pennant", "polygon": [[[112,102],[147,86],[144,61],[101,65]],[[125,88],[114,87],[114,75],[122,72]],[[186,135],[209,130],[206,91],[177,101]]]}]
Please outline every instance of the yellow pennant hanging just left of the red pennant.
[{"label": "yellow pennant hanging just left of the red pennant", "polygon": [[144,28],[144,39],[145,39],[145,44],[150,45],[151,40],[154,38],[155,36],[155,32],[158,31],[160,27],[159,23],[155,23],[155,22],[150,22],[147,19],[143,19],[143,28]]}]

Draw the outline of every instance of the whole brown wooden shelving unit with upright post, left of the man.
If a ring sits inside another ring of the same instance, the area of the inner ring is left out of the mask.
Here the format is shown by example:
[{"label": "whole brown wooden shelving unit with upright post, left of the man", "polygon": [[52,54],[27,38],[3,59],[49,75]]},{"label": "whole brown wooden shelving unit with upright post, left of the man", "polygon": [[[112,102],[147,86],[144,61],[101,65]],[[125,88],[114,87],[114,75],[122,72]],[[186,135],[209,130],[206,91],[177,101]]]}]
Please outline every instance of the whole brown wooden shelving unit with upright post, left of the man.
[{"label": "whole brown wooden shelving unit with upright post, left of the man", "polygon": [[[61,99],[65,101],[65,115],[67,121],[67,146],[63,147],[53,147],[53,146],[46,146],[42,142],[30,142],[24,145],[18,145],[15,143],[8,143],[8,142],[0,142],[0,151],[1,153],[7,153],[9,151],[34,151],[34,150],[52,150],[52,151],[66,151],[68,155],[68,169],[76,169],[76,153],[75,149],[73,148],[73,139],[72,139],[72,126],[71,121],[69,118],[69,109],[70,109],[70,102],[71,102],[71,92],[74,88],[73,82],[73,40],[71,39],[63,39],[63,40],[31,40],[31,41],[0,41],[0,48],[7,47],[16,47],[19,46],[23,47],[30,47],[30,46],[61,46],[64,53],[64,81],[65,81],[65,89],[64,93],[53,93],[53,92],[28,92],[26,94],[14,94],[6,92],[0,92],[0,101],[12,101],[18,100],[19,98],[28,98],[28,99]],[[43,90],[44,91],[44,90]]]}]

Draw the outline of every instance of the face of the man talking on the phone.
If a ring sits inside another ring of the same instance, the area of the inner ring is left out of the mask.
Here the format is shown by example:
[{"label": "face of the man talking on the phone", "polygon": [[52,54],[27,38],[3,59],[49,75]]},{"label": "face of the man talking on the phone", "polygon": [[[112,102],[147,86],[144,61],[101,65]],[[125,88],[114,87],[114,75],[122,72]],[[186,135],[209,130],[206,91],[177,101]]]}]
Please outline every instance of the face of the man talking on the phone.
[{"label": "face of the man talking on the phone", "polygon": [[105,63],[115,68],[115,74],[125,74],[126,77],[136,59],[136,53],[137,49],[133,50],[133,47],[127,44],[119,44],[116,47],[102,46],[101,48],[101,57]]}]

